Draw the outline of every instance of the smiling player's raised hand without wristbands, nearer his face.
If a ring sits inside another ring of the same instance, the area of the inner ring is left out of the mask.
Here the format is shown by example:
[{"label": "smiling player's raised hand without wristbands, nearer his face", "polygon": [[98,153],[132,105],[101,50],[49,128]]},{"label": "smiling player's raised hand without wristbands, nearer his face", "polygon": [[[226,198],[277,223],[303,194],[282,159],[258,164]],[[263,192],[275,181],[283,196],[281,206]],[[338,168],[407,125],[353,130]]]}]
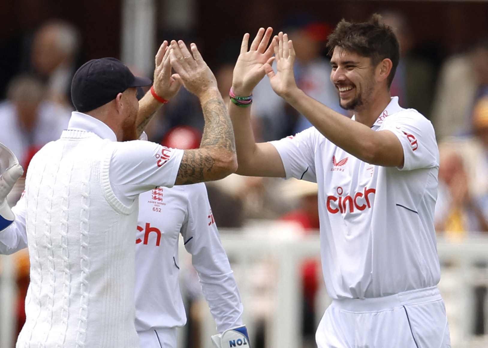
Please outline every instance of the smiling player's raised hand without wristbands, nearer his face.
[{"label": "smiling player's raised hand without wristbands, nearer his face", "polygon": [[280,32],[278,37],[273,40],[278,41],[278,44],[274,45],[277,71],[275,73],[269,63],[264,64],[264,71],[275,93],[285,98],[291,90],[298,88],[293,74],[295,50],[291,40],[288,41],[288,35],[283,32]]}]

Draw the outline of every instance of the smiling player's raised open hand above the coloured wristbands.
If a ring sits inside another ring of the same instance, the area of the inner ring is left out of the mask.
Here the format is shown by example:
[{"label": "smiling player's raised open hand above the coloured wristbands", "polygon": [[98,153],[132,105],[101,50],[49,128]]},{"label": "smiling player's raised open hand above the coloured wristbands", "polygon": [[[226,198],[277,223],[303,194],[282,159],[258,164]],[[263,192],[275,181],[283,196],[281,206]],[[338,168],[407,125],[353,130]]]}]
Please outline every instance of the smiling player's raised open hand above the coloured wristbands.
[{"label": "smiling player's raised open hand above the coloured wristbands", "polygon": [[273,45],[276,42],[272,41],[268,46],[272,33],[271,27],[267,28],[266,31],[264,28],[260,28],[249,49],[247,48],[249,34],[244,34],[241,52],[237,58],[232,77],[232,90],[236,95],[248,96],[252,94],[253,88],[264,77],[264,64],[273,62]]}]

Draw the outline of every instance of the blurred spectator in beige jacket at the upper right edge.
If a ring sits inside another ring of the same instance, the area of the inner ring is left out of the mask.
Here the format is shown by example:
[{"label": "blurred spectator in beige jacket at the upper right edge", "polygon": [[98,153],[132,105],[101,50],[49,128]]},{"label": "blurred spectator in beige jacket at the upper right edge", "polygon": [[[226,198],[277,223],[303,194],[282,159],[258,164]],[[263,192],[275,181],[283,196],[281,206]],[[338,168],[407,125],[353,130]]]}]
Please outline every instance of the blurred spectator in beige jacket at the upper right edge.
[{"label": "blurred spectator in beige jacket at the upper right edge", "polygon": [[471,133],[474,101],[488,87],[488,38],[466,53],[447,59],[441,68],[432,108],[438,141]]}]

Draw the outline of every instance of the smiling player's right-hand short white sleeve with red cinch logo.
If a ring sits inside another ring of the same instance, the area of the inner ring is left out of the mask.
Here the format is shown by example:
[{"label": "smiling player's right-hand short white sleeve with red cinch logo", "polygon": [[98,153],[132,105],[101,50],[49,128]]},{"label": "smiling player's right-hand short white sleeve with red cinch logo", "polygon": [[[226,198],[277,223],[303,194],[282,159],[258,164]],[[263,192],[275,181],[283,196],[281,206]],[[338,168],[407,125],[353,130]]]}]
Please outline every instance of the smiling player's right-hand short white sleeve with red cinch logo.
[{"label": "smiling player's right-hand short white sleeve with red cinch logo", "polygon": [[393,132],[402,143],[405,160],[400,170],[439,165],[434,127],[417,111],[409,109],[387,117],[381,130]]}]

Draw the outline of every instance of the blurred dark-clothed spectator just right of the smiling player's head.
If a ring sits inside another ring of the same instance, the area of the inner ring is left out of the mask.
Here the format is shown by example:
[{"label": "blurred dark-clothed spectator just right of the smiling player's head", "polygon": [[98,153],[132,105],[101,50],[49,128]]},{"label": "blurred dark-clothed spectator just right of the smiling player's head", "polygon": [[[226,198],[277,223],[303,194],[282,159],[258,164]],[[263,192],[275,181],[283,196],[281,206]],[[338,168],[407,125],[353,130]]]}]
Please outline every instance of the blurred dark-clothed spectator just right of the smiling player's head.
[{"label": "blurred dark-clothed spectator just right of the smiling player's head", "polygon": [[400,43],[400,61],[390,93],[398,96],[400,106],[416,109],[430,119],[435,68],[430,61],[412,52],[414,39],[407,18],[401,12],[386,10],[380,14],[382,21],[393,28]]}]

